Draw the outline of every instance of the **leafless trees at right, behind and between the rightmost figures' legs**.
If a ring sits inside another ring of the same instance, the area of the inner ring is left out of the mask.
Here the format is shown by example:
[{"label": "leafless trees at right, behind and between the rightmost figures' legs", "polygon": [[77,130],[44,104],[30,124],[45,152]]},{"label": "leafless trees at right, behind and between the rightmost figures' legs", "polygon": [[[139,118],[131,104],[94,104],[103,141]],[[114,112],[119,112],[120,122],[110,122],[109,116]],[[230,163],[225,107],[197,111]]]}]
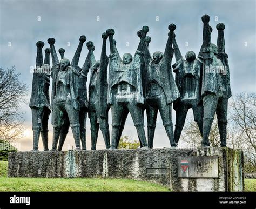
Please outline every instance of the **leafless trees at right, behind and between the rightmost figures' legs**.
[{"label": "leafless trees at right, behind and between the rightmost figures' legs", "polygon": [[[244,152],[246,171],[256,172],[256,94],[240,93],[232,98],[228,107],[227,146]],[[181,134],[181,141],[190,146],[201,146],[197,123],[190,117]],[[216,116],[209,137],[211,146],[220,145]]]}]

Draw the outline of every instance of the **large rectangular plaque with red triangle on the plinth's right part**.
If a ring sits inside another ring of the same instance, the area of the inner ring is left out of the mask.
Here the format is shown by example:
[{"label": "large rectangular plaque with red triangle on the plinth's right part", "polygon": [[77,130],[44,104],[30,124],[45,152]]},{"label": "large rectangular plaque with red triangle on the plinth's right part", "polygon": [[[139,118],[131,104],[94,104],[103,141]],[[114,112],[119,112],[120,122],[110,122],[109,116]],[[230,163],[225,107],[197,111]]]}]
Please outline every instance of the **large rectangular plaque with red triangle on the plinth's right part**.
[{"label": "large rectangular plaque with red triangle on the plinth's right part", "polygon": [[218,178],[218,156],[178,157],[179,178]]}]

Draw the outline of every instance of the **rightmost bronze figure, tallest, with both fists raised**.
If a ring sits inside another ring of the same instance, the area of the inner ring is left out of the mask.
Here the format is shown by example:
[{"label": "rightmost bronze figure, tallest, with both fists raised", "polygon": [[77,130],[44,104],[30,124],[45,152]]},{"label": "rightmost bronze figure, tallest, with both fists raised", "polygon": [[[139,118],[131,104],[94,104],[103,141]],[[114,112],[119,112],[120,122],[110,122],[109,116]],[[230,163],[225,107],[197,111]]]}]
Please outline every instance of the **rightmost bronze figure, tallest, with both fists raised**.
[{"label": "rightmost bronze figure, tallest, with both fists raised", "polygon": [[219,23],[218,49],[211,43],[210,17],[204,15],[203,21],[203,81],[202,97],[204,105],[204,124],[202,146],[209,145],[209,134],[216,112],[220,133],[220,146],[226,146],[227,104],[231,97],[230,71],[225,53],[224,29],[225,25]]}]

